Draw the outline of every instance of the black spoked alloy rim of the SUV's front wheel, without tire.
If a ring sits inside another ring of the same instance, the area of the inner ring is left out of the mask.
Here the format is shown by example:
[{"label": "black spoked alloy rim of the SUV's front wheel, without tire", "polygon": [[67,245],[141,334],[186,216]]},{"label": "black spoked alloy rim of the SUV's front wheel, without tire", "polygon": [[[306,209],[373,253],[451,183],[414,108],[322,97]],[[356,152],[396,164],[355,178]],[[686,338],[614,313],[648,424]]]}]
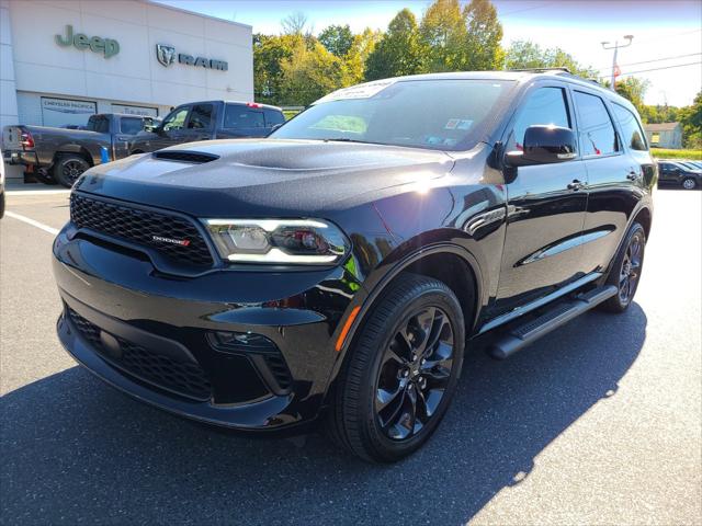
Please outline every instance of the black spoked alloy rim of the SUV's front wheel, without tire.
[{"label": "black spoked alloy rim of the SUV's front wheel, without tire", "polygon": [[453,329],[448,315],[427,307],[403,323],[383,355],[375,414],[390,439],[419,433],[437,412],[453,369]]}]

